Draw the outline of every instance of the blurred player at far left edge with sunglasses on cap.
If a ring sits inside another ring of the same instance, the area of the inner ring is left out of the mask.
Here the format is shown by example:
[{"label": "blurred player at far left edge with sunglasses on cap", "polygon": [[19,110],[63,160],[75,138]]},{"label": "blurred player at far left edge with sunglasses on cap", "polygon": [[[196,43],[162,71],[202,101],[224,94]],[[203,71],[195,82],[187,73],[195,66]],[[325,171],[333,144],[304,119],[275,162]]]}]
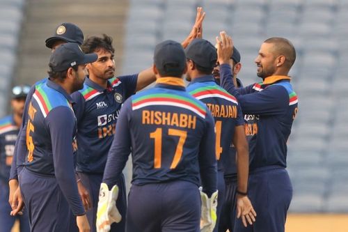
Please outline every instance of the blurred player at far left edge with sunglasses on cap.
[{"label": "blurred player at far left edge with sunglasses on cap", "polygon": [[21,232],[29,232],[28,212],[24,210],[22,215],[11,217],[11,207],[8,205],[8,177],[15,150],[15,141],[22,125],[22,116],[26,95],[30,86],[20,85],[12,89],[11,108],[13,114],[0,119],[0,225],[1,231],[10,232],[15,220],[19,220]]}]

